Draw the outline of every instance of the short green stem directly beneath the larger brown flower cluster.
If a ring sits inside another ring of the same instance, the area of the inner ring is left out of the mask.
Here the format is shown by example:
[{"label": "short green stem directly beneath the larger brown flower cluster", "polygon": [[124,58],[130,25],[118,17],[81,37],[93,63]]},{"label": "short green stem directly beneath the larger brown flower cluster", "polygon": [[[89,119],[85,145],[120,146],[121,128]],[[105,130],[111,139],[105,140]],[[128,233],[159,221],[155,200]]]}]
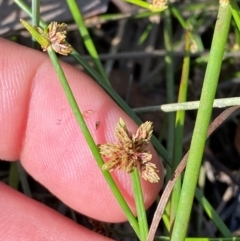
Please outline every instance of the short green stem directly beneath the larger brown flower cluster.
[{"label": "short green stem directly beneath the larger brown flower cluster", "polygon": [[141,241],[146,241],[148,235],[148,223],[138,168],[135,168],[135,170],[131,173],[131,178]]}]

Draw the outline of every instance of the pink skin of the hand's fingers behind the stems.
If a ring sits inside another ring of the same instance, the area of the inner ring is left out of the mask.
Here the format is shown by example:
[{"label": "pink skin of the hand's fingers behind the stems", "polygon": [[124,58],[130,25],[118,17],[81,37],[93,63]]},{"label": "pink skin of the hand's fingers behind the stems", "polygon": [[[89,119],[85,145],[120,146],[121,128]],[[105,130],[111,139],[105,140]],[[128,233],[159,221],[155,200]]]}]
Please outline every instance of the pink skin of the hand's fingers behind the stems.
[{"label": "pink skin of the hand's fingers behind the stems", "polygon": [[[121,222],[126,218],[102,177],[76,124],[46,53],[0,38],[0,159],[21,160],[26,171],[66,205],[92,218]],[[97,144],[114,142],[122,117],[131,131],[137,125],[88,76],[62,64]],[[96,130],[96,123],[100,123]],[[162,166],[152,147],[153,162]],[[113,173],[135,212],[127,174]],[[161,178],[162,180],[163,178]],[[162,182],[142,181],[146,208]],[[0,184],[0,240],[110,240],[54,210]]]}]

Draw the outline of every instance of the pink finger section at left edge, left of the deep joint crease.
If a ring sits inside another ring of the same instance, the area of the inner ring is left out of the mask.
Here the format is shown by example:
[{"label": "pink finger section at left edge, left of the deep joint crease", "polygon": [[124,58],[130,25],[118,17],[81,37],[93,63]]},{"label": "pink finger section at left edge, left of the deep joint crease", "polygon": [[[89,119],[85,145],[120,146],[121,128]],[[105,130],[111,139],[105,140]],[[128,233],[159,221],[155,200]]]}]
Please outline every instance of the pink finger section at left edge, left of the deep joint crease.
[{"label": "pink finger section at left edge, left of the deep joint crease", "polygon": [[21,152],[32,79],[41,62],[26,61],[32,53],[28,48],[0,38],[0,154],[4,160],[17,160]]}]

